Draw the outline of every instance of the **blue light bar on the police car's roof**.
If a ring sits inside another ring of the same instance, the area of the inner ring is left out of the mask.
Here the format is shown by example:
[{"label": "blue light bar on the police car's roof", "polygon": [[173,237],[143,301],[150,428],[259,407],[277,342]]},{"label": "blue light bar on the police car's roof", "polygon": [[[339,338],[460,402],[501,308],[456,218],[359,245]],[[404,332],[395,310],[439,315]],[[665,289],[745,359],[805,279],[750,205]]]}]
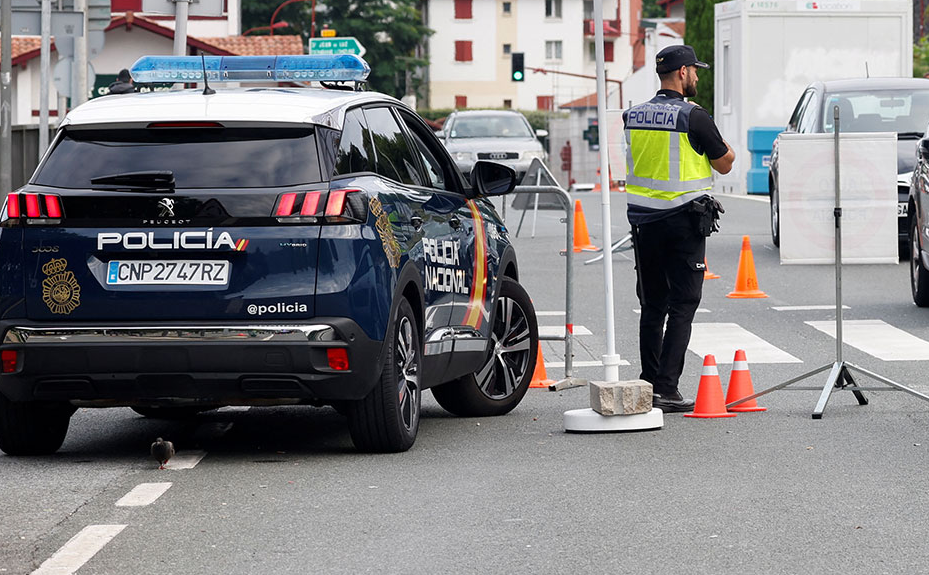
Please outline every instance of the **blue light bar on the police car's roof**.
[{"label": "blue light bar on the police car's roof", "polygon": [[132,65],[133,81],[199,82],[363,82],[368,63],[354,54],[297,56],[142,56]]}]

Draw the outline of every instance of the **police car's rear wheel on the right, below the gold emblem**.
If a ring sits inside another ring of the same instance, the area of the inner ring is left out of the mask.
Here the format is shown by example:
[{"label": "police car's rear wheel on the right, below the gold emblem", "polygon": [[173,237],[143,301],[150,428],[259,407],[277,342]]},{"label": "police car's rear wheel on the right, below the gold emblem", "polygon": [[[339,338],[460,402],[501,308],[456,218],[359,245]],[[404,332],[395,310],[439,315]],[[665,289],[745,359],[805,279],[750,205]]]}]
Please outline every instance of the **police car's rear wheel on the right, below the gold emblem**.
[{"label": "police car's rear wheel on the right, below the gold emblem", "polygon": [[409,302],[401,300],[384,346],[381,377],[348,406],[352,442],[360,451],[399,453],[416,441],[422,405],[422,343]]}]

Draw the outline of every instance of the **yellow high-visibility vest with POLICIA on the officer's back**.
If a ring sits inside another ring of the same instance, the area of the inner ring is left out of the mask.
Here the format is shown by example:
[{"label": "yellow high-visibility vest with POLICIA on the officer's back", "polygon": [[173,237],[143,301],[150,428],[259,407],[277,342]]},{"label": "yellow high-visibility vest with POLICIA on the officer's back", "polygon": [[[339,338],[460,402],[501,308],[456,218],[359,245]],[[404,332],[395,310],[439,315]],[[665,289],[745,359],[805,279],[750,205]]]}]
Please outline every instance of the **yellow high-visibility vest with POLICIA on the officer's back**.
[{"label": "yellow high-visibility vest with POLICIA on the officer's back", "polygon": [[710,160],[694,150],[687,136],[695,107],[658,94],[623,115],[630,213],[677,208],[712,189]]}]

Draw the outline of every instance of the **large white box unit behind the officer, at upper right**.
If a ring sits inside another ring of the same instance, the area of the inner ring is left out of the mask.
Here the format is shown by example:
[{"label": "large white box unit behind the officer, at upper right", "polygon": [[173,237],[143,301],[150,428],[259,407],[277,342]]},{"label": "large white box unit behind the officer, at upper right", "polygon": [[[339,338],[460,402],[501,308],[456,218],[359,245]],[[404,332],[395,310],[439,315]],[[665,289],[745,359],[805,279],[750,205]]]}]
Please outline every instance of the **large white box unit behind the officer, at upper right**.
[{"label": "large white box unit behind the officer, at upper right", "polygon": [[736,154],[716,193],[745,193],[748,129],[786,126],[810,82],[913,75],[911,0],[731,0],[715,11],[714,119]]}]

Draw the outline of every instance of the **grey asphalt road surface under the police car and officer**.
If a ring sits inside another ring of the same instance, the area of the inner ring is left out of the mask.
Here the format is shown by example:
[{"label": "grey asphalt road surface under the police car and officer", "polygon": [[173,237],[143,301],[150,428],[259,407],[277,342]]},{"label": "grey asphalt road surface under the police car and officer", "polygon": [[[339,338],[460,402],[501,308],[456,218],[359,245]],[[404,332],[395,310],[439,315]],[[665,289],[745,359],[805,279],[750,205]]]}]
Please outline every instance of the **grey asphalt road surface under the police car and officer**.
[{"label": "grey asphalt road surface under the police car and officer", "polygon": [[[575,197],[601,245],[600,196]],[[622,196],[612,197],[618,238],[628,225]],[[749,357],[756,389],[831,363],[835,340],[805,322],[834,311],[772,308],[834,304],[834,268],[779,265],[767,203],[723,201],[723,230],[708,245],[721,278],[705,283],[707,311],[697,322],[738,324],[799,360]],[[508,210],[513,231],[519,214]],[[535,238],[527,217],[515,239],[539,311],[564,310],[558,217],[540,212]],[[725,297],[743,235],[766,299]],[[631,364],[620,376],[634,379],[631,252],[612,257],[617,351]],[[929,341],[929,310],[913,306],[906,266],[846,266],[846,320],[881,320]],[[595,362],[605,352],[602,267],[578,265],[576,290],[574,323],[592,333],[577,337],[576,360]],[[543,349],[546,361],[562,359],[557,342]],[[844,352],[929,389],[925,360]],[[725,385],[731,358],[718,359]],[[701,360],[688,354],[687,395],[696,393]],[[598,379],[602,368],[576,375]],[[825,374],[810,379],[824,382]],[[417,442],[398,455],[356,453],[331,409],[212,411],[188,422],[82,409],[55,456],[0,455],[0,573],[28,573],[75,535],[108,525],[121,527],[109,529],[112,539],[100,540],[80,574],[929,572],[929,402],[882,392],[858,406],[841,392],[812,420],[819,393],[785,390],[759,400],[764,413],[668,414],[658,431],[565,433],[563,412],[587,407],[587,393],[531,390],[511,414],[487,419],[449,416],[426,394]],[[199,462],[157,470],[148,458],[156,436]],[[144,483],[170,486],[151,504],[116,505]]]}]

